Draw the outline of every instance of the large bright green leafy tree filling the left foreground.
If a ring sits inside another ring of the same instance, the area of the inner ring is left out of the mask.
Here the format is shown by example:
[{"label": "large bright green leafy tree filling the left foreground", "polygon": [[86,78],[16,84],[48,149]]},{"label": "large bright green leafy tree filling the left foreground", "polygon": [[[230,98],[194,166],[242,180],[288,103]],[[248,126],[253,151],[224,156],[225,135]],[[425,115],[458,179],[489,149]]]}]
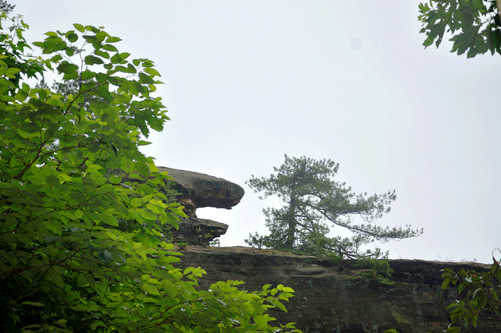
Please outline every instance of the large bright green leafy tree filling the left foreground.
[{"label": "large bright green leafy tree filling the left foreground", "polygon": [[[204,270],[173,266],[180,254],[162,226],[184,213],[138,150],[148,144],[139,134],[168,120],[152,61],[128,60],[120,38],[81,24],[47,32],[34,45],[48,58],[33,58],[28,26],[17,17],[4,31],[0,18],[3,332],[293,331],[267,314],[285,310],[291,288],[220,281],[205,291]],[[63,95],[25,81],[51,69],[77,87]]]}]

